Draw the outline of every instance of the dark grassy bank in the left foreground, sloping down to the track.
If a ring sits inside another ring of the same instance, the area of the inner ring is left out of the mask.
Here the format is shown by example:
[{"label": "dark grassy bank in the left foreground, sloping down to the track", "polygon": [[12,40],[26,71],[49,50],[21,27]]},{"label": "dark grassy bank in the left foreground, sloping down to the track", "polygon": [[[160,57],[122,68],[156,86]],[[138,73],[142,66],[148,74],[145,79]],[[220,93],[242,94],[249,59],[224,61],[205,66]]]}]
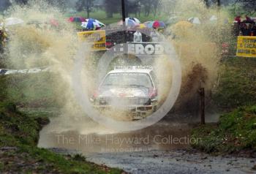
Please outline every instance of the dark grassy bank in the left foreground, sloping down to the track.
[{"label": "dark grassy bank in the left foreground, sloping down to the track", "polygon": [[122,172],[86,162],[80,155],[63,156],[37,148],[42,119],[20,113],[12,103],[0,102],[0,173]]}]

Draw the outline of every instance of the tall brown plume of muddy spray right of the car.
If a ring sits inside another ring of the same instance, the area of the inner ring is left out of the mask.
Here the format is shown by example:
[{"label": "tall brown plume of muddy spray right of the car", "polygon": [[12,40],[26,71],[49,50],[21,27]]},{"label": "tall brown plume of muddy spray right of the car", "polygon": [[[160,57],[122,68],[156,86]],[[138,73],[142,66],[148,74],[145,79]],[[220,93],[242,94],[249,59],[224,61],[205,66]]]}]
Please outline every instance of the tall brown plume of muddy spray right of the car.
[{"label": "tall brown plume of muddy spray right of the car", "polygon": [[[162,1],[162,4],[168,2]],[[175,7],[170,7],[173,8],[179,22],[169,27],[172,34],[169,40],[176,45],[181,59],[183,80],[175,109],[186,113],[198,109],[198,88],[206,89],[206,102],[210,101],[209,94],[217,82],[220,45],[224,37],[231,36],[231,30],[227,13],[218,7],[206,7],[203,1],[176,1]],[[189,23],[189,18],[199,18],[200,24]]]}]

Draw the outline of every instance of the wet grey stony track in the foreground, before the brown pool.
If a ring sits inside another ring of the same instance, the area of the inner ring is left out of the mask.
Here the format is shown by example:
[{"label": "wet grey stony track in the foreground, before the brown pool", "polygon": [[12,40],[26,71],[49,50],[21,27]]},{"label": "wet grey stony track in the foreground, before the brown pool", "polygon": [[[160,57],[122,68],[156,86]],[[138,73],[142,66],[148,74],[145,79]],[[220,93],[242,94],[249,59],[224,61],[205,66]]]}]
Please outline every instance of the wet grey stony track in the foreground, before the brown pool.
[{"label": "wet grey stony track in the foreground, before the brown pool", "polygon": [[252,170],[255,159],[177,150],[88,154],[86,159],[124,169],[128,173],[256,173]]}]

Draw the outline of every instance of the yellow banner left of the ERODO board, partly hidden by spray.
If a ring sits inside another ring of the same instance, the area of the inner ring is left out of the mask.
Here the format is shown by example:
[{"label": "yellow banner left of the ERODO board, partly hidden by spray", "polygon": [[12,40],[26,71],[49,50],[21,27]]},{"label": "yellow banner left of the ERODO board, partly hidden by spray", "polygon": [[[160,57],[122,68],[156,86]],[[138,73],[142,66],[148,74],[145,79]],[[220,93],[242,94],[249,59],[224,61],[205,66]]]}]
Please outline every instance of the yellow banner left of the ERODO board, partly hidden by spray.
[{"label": "yellow banner left of the ERODO board, partly hidden by spray", "polygon": [[82,41],[91,43],[92,50],[106,50],[105,30],[78,32],[78,37]]}]

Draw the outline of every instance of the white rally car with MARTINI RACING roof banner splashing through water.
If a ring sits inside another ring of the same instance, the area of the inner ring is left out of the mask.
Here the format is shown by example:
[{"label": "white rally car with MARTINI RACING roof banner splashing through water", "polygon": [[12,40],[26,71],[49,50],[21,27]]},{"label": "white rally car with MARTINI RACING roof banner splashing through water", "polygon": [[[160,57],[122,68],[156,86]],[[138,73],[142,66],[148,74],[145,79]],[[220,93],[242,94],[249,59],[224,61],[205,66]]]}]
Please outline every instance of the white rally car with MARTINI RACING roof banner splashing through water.
[{"label": "white rally car with MARTINI RACING roof banner splashing through water", "polygon": [[118,66],[108,72],[91,97],[100,110],[125,110],[132,120],[157,110],[157,77],[151,66]]}]

